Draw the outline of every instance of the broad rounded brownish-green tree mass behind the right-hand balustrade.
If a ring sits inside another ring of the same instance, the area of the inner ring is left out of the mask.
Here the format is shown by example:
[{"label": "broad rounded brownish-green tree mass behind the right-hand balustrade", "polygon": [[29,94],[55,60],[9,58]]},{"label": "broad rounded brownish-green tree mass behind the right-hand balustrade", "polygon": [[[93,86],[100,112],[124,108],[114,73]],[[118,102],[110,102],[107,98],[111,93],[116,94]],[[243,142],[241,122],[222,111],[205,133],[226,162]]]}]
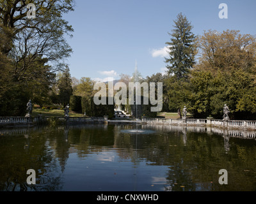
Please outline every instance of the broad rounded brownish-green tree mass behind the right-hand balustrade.
[{"label": "broad rounded brownish-green tree mass behind the right-hand balustrade", "polygon": [[[200,58],[194,69],[164,82],[170,110],[184,105],[195,118],[223,118],[228,105],[230,119],[256,116],[256,38],[238,31],[205,32],[198,41]],[[173,55],[175,57],[175,55]]]}]

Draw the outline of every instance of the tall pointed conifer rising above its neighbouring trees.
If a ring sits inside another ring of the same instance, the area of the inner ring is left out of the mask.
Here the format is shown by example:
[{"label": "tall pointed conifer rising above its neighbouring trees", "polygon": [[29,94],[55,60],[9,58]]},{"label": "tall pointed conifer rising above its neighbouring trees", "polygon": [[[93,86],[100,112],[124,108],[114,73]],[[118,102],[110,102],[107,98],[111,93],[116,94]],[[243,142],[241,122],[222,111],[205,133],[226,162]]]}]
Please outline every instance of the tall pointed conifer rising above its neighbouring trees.
[{"label": "tall pointed conifer rising above its neighbouring trees", "polygon": [[184,105],[188,106],[188,78],[195,64],[196,38],[191,32],[193,26],[182,13],[179,13],[174,23],[174,29],[169,33],[171,42],[166,43],[170,49],[170,58],[165,58],[170,77],[164,80],[166,87],[163,96],[168,108],[173,112],[178,110],[181,117],[180,110]]}]

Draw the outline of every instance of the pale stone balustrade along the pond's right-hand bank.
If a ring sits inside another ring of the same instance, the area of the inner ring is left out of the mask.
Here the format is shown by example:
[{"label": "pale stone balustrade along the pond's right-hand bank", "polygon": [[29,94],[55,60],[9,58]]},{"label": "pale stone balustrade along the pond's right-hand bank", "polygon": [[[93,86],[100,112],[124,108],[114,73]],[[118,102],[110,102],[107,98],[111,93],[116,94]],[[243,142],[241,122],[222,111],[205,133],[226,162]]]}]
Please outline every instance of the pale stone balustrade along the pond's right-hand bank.
[{"label": "pale stone balustrade along the pond's right-hand bank", "polygon": [[152,119],[143,118],[141,120],[147,124],[180,124],[180,125],[207,125],[223,126],[234,128],[256,128],[256,120],[215,120],[215,119]]}]

